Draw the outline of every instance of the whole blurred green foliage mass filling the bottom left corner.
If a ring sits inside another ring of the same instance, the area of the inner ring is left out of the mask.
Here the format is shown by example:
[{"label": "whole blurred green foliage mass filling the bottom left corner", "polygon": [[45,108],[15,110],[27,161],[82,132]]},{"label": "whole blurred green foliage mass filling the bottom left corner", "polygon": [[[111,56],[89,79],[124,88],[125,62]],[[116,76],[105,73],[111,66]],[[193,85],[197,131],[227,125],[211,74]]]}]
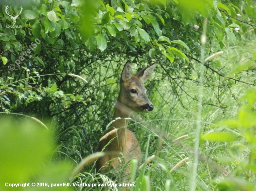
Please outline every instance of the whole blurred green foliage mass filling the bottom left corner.
[{"label": "whole blurred green foliage mass filling the bottom left corner", "polygon": [[[32,119],[13,117],[1,117],[0,121],[2,191],[40,191],[51,187],[51,184],[69,182],[71,166],[67,162],[54,160],[56,146],[44,124],[38,120],[35,122]],[[43,186],[37,183],[42,183]],[[68,191],[70,188],[52,187],[51,190]]]}]

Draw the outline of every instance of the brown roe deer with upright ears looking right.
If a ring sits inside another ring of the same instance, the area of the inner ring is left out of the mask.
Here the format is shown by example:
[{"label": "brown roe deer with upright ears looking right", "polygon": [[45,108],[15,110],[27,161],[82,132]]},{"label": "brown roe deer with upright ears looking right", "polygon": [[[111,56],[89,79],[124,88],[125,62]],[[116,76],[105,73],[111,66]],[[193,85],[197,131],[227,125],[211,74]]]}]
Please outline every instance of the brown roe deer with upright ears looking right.
[{"label": "brown roe deer with upright ears looking right", "polygon": [[[107,134],[111,130],[117,128],[117,132],[109,135],[106,139],[101,140],[97,146],[96,151],[101,152],[104,146],[106,146],[110,140],[111,143],[105,147],[104,152],[110,152],[102,158],[96,161],[96,171],[101,173],[107,172],[108,168],[116,168],[120,164],[118,157],[121,157],[120,153],[124,156],[124,161],[127,162],[130,159],[136,158],[141,162],[141,148],[138,144],[138,140],[135,135],[126,127],[128,121],[123,118],[129,117],[132,111],[135,112],[148,112],[154,109],[152,103],[146,96],[146,89],[141,83],[145,82],[149,76],[153,73],[156,64],[150,65],[147,68],[139,71],[134,76],[132,74],[132,65],[128,61],[122,70],[120,80],[120,92],[115,106],[115,113],[113,120],[120,117],[120,120],[114,121],[104,134]],[[120,128],[124,127],[124,128]],[[111,154],[112,152],[112,154]],[[111,160],[111,161],[110,161]],[[130,165],[125,167],[124,174],[130,174]],[[123,180],[123,178],[122,178]]]}]

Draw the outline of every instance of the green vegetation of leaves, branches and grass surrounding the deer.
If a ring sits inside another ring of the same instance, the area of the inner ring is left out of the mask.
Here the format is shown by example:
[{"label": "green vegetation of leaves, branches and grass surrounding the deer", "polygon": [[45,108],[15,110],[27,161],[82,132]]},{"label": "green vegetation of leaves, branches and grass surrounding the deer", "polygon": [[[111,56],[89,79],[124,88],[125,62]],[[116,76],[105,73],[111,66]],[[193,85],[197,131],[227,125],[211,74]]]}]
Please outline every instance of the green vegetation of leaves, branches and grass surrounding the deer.
[{"label": "green vegetation of leaves, branches and grass surrounding the deer", "polygon": [[[15,23],[21,28],[8,27],[7,5],[13,16],[23,7]],[[127,60],[135,70],[157,63],[145,84],[155,109],[128,127],[145,159],[155,159],[136,171],[131,190],[256,190],[255,1],[2,0],[0,6],[1,190],[14,189],[7,181],[69,182],[71,166],[94,153],[112,119]],[[174,141],[182,135],[188,136]],[[110,180],[92,163],[70,183],[101,181]]]}]

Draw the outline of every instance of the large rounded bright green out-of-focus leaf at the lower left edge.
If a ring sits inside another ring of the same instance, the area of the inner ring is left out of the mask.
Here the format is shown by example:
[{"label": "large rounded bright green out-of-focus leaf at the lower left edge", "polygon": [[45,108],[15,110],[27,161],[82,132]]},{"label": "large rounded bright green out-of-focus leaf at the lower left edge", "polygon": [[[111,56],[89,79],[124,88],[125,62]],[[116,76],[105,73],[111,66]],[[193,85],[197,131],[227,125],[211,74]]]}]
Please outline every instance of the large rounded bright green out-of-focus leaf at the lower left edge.
[{"label": "large rounded bright green out-of-focus leaf at the lower left edge", "polygon": [[9,117],[0,120],[0,174],[3,176],[0,184],[25,182],[41,172],[43,163],[53,152],[50,131],[32,120],[15,122]]}]

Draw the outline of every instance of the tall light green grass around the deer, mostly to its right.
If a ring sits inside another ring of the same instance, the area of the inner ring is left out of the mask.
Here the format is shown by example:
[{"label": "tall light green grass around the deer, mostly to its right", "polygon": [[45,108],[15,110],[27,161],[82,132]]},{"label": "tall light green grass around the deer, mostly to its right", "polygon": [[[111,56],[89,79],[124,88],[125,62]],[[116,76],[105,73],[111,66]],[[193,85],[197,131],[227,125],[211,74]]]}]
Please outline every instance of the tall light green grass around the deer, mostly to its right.
[{"label": "tall light green grass around the deer, mostly to its right", "polygon": [[[218,72],[223,75],[229,73],[237,65],[248,61],[253,53],[256,52],[256,38],[252,32],[245,34],[242,42],[236,42],[234,45],[227,39],[225,44],[227,50],[224,50],[221,56],[214,58],[215,62],[209,63],[217,64],[212,65],[212,67],[218,69]],[[213,45],[212,50],[216,52],[218,46]],[[208,55],[207,53],[206,57],[208,56],[210,54]],[[201,60],[204,60],[203,53]],[[194,62],[189,67],[196,68],[197,64]],[[254,68],[255,64],[247,70],[230,76],[239,80],[236,81],[219,76],[205,67],[205,79],[201,78],[200,80],[198,74],[194,72],[190,76],[191,80],[185,81],[182,85],[182,89],[176,89],[179,98],[174,93],[175,86],[173,82],[166,79],[158,81],[157,89],[153,87],[151,90],[154,94],[149,95],[155,109],[146,115],[138,114],[135,120],[129,121],[128,128],[135,132],[141,146],[144,156],[142,163],[144,164],[148,157],[155,155],[155,159],[142,166],[141,170],[135,171],[141,164],[136,164],[136,161],[132,161],[132,177],[133,181],[136,182],[136,186],[131,187],[130,190],[214,190],[209,187],[209,184],[211,180],[221,174],[223,167],[225,167],[225,163],[219,159],[230,159],[230,153],[227,151],[233,149],[232,146],[234,144],[243,144],[243,142],[240,140],[236,140],[233,143],[202,141],[200,135],[223,131],[241,134],[238,130],[227,129],[216,124],[226,119],[236,118],[239,105],[243,102],[239,98],[243,96],[246,89],[251,87],[247,83],[256,82],[255,70],[252,70]],[[209,76],[214,77],[216,81],[209,82],[207,79]],[[161,73],[155,72],[155,77],[152,78],[161,79],[161,77]],[[198,86],[195,81],[202,83]],[[116,84],[114,86],[115,92],[117,92]],[[198,96],[198,94],[202,96]],[[113,102],[115,101],[113,100]],[[202,110],[200,109],[201,107]],[[198,113],[201,113],[201,115],[198,115]],[[94,123],[96,127],[100,126],[100,123],[95,121]],[[71,127],[69,132],[73,131],[75,134],[79,134],[79,141],[84,141],[84,135],[76,129],[76,127]],[[93,133],[95,131],[91,132],[90,135],[92,136]],[[98,131],[98,133],[102,132]],[[99,134],[97,137],[100,138],[101,135]],[[173,142],[173,140],[182,135],[188,136],[185,136],[185,139]],[[74,141],[75,144],[77,144],[77,141]],[[96,142],[97,140],[92,142],[92,145],[97,144]],[[67,150],[66,153],[81,153],[83,149],[81,147],[77,150],[77,147],[72,145],[61,145],[61,147]],[[81,158],[78,157],[74,161],[78,164]],[[180,163],[186,158],[189,158],[189,160],[184,160]],[[178,166],[176,166],[177,164]],[[175,170],[171,171],[172,168]],[[122,167],[120,167],[121,170]],[[95,173],[94,163],[91,163],[84,171],[77,174],[73,181],[79,183],[117,182],[117,180],[109,179],[107,175]],[[77,187],[76,189],[79,191],[100,191],[106,188]],[[107,190],[120,190],[120,188],[111,187],[107,188]]]}]

